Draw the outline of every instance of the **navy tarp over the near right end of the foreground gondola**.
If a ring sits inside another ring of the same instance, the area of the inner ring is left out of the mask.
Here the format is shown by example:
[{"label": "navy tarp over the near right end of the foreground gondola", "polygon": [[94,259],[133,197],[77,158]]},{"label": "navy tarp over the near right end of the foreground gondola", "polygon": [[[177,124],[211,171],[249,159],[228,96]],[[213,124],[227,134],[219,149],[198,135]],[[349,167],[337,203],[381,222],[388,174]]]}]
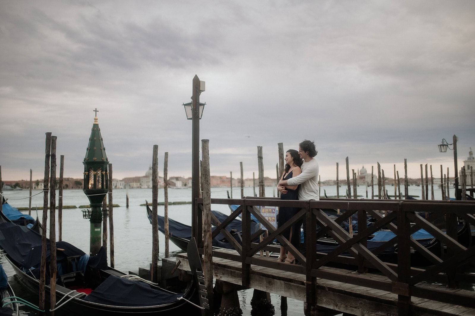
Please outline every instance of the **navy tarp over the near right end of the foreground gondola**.
[{"label": "navy tarp over the near right end of the foreground gondola", "polygon": [[172,303],[182,296],[183,294],[164,292],[142,281],[111,275],[84,300],[113,306],[139,307]]}]

